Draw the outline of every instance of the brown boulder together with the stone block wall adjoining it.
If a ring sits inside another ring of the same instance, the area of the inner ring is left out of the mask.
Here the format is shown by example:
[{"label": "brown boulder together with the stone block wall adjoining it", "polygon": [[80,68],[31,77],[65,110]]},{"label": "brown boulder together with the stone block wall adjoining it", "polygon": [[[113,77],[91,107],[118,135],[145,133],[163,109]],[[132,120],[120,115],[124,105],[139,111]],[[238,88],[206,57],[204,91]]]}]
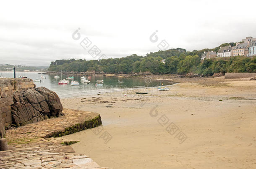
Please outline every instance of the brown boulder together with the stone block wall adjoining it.
[{"label": "brown boulder together with the stone block wall adjoining it", "polygon": [[60,98],[31,79],[0,79],[0,137],[5,129],[62,116]]}]

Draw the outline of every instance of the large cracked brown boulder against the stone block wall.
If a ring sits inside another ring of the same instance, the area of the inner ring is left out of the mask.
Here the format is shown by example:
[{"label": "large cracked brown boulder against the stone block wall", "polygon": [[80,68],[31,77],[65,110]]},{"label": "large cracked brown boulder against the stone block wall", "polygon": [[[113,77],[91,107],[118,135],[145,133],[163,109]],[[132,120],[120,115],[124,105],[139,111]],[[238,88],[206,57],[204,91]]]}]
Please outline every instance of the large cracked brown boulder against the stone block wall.
[{"label": "large cracked brown boulder against the stone block wall", "polygon": [[17,91],[13,93],[13,101],[11,114],[13,124],[17,126],[62,116],[60,98],[45,87]]}]

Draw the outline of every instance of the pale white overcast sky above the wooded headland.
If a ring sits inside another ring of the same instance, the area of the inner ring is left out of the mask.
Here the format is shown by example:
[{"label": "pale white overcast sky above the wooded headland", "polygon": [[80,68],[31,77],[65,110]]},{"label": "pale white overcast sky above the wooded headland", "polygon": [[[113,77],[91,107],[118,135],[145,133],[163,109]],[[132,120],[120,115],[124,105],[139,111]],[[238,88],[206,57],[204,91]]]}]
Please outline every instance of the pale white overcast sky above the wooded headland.
[{"label": "pale white overcast sky above the wooded headland", "polygon": [[[214,48],[256,37],[255,7],[255,0],[6,0],[0,5],[0,64],[92,60],[93,45],[107,58],[156,52],[162,40],[168,49]],[[74,40],[78,28],[81,37]],[[91,45],[82,48],[86,37]]]}]

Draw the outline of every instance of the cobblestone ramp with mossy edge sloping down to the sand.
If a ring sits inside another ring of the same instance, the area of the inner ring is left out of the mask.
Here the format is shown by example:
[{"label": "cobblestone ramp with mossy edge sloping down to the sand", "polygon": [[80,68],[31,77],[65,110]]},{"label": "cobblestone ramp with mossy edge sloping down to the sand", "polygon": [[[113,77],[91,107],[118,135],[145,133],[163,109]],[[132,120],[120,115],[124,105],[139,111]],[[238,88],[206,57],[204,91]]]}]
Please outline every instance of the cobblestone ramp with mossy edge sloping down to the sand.
[{"label": "cobblestone ramp with mossy edge sloping down to the sand", "polygon": [[99,126],[101,121],[94,122],[99,114],[70,109],[63,113],[59,118],[7,130],[9,150],[0,151],[0,169],[107,169],[65,145],[71,140],[51,137]]}]

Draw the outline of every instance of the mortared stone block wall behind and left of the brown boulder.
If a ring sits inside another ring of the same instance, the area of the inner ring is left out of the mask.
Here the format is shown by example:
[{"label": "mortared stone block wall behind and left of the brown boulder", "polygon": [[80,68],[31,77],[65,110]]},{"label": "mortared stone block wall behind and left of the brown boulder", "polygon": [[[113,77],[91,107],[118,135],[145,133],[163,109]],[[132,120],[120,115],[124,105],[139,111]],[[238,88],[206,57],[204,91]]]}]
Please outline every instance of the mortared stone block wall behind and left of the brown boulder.
[{"label": "mortared stone block wall behind and left of the brown boulder", "polygon": [[32,79],[22,78],[4,78],[0,79],[0,114],[2,123],[5,127],[12,124],[11,105],[13,102],[13,93],[28,88],[34,88],[35,84]]}]

